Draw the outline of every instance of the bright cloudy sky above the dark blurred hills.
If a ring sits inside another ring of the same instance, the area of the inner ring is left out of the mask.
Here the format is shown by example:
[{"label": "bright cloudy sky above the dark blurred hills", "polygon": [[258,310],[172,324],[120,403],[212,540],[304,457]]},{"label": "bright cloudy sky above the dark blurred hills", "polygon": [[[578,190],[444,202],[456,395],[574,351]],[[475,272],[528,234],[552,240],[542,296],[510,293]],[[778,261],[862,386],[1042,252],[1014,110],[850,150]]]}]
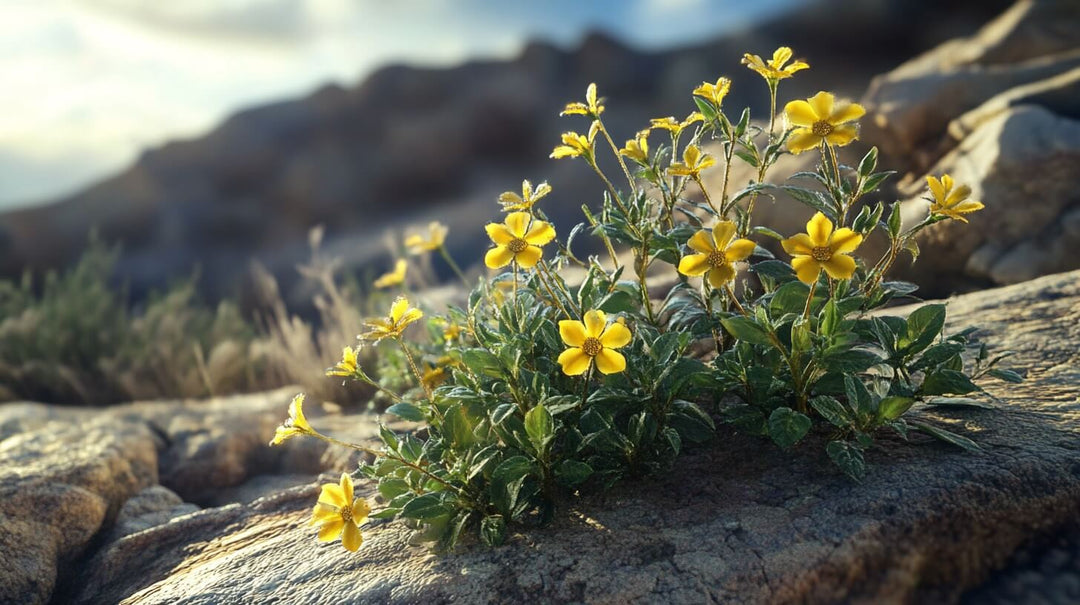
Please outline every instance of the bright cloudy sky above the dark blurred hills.
[{"label": "bright cloudy sky above the dark blurred hills", "polygon": [[388,63],[509,58],[600,29],[693,43],[799,0],[0,0],[0,211],[55,200],[229,113]]}]

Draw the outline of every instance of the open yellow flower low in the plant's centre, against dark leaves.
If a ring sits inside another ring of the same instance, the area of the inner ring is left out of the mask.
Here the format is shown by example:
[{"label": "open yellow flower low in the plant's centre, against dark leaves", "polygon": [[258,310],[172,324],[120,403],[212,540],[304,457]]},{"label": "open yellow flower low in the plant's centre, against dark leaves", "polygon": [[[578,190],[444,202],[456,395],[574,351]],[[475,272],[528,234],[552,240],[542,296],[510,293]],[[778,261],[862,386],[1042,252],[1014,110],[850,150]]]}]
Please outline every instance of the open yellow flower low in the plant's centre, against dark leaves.
[{"label": "open yellow flower low in the plant's centre, against dark leaves", "polygon": [[584,323],[577,320],[558,322],[558,334],[569,349],[558,355],[563,374],[579,376],[592,363],[604,374],[617,374],[626,369],[626,358],[615,351],[630,344],[630,330],[622,322],[607,323],[604,311],[589,311]]}]

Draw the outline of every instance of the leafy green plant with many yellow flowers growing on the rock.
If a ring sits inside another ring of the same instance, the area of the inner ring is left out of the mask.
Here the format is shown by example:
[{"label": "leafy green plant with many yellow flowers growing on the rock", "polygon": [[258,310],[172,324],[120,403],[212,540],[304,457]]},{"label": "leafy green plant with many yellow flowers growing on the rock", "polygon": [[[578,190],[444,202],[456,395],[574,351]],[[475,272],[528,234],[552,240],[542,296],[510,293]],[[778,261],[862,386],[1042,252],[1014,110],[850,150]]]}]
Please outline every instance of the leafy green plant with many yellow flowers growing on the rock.
[{"label": "leafy green plant with many yellow flowers growing on the rock", "polygon": [[[971,331],[943,336],[944,305],[906,315],[881,309],[916,290],[887,278],[902,254],[918,256],[916,236],[966,220],[982,204],[947,175],[928,179],[929,212],[914,225],[902,224],[899,203],[863,203],[890,173],[878,170],[876,149],[854,166],[836,149],[856,138],[864,110],[820,92],[778,112],[779,84],[808,67],[791,57],[782,48],[768,62],[744,59],[768,85],[767,125],[753,122],[750,109],[728,113],[731,82],[720,78],[693,91],[689,117],[652,120],[622,147],[591,84],[583,103],[563,111],[584,118],[585,134],[563,134],[552,158],[595,172],[606,188],[598,212],[583,206],[586,223],[561,241],[539,204],[551,187],[524,182],[521,194],[500,197],[504,219],[486,226],[492,247],[484,261],[496,274],[480,281],[465,306],[429,320],[428,338],[410,342],[405,332],[424,313],[401,297],[360,335],[360,346],[399,350],[409,384],[373,379],[353,348],[328,371],[383,393],[390,414],[422,430],[383,427],[378,448],[341,443],[311,427],[298,395],[273,443],[307,434],[368,453],[359,472],[377,482],[381,500],[370,517],[405,520],[438,550],[467,532],[498,544],[511,524],[552,519],[566,496],[667,469],[713,439],[716,419],[782,448],[816,429],[824,454],[855,481],[881,431],[904,439],[921,431],[976,449],[912,409],[985,405],[966,399],[981,391],[977,379],[1020,376],[997,367],[1003,355],[971,350]],[[658,134],[662,140],[650,144]],[[599,167],[604,152],[615,156],[624,187]],[[772,185],[769,170],[786,152],[820,161]],[[732,183],[734,162],[755,167],[757,178]],[[717,190],[702,178],[713,169],[723,170]],[[755,225],[762,197],[809,206],[806,232],[785,238]],[[583,233],[602,240],[607,258],[575,256]],[[874,234],[888,242],[876,261],[858,254]],[[762,246],[769,240],[788,258]],[[442,239],[429,250],[441,246]],[[677,283],[650,292],[646,275],[656,266]],[[571,267],[580,275],[573,283]],[[324,487],[313,514],[320,539],[341,535],[355,550],[351,494],[346,474]]]}]

